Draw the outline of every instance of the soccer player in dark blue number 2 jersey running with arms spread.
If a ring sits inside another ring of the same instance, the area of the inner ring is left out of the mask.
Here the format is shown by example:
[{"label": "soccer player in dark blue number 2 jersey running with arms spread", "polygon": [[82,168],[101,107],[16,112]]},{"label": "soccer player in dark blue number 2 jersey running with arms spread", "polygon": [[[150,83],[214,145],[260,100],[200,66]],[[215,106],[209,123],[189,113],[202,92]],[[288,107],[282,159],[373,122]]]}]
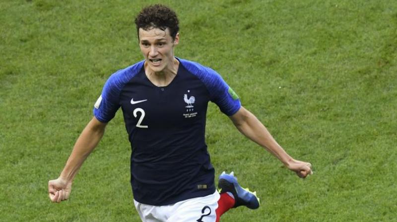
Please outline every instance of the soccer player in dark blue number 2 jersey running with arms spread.
[{"label": "soccer player in dark blue number 2 jersey running with arms spread", "polygon": [[204,141],[208,102],[298,176],[311,173],[309,163],[290,157],[241,106],[218,73],[174,56],[180,40],[178,23],[175,12],[164,5],[145,7],[137,15],[144,60],[106,81],[94,105],[94,117],[77,139],[59,178],[49,181],[51,201],[60,203],[69,197],[74,176],[119,108],[132,146],[134,205],[143,222],[215,222],[230,208],[259,207],[255,193],[243,189],[233,173],[222,173],[215,189]]}]

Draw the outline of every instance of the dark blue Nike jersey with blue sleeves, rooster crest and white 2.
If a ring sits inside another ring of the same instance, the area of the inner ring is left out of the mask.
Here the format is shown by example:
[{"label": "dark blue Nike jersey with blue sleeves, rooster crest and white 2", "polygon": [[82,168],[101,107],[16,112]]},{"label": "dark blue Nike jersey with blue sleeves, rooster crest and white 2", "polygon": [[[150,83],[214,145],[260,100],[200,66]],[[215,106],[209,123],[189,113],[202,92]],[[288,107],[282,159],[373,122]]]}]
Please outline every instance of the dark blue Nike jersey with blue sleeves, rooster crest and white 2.
[{"label": "dark blue Nike jersey with blue sleeves, rooster crest and white 2", "polygon": [[180,59],[165,87],[153,85],[144,61],[114,73],[94,107],[108,122],[121,107],[131,142],[131,185],[136,201],[169,205],[215,192],[204,141],[208,102],[233,115],[240,100],[214,70]]}]

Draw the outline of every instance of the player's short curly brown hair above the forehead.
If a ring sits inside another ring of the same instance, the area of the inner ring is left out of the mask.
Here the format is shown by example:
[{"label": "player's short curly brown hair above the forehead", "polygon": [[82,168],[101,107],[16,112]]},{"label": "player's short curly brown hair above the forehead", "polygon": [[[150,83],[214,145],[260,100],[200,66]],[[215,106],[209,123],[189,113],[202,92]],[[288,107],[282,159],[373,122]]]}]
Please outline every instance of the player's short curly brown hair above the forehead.
[{"label": "player's short curly brown hair above the forehead", "polygon": [[175,40],[175,36],[179,32],[178,24],[179,20],[175,11],[162,4],[144,7],[135,18],[138,40],[139,28],[146,31],[152,28],[159,28],[164,31],[168,28],[172,39]]}]

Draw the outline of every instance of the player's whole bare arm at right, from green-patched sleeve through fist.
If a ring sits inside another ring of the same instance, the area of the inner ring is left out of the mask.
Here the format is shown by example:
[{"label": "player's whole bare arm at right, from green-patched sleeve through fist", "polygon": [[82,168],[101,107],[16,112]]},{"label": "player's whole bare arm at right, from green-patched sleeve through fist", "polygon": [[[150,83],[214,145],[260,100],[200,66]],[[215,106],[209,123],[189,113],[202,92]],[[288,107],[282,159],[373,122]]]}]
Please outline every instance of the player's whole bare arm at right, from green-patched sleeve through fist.
[{"label": "player's whole bare arm at right, from green-patched sleeve through fist", "polygon": [[242,134],[264,147],[285,166],[295,171],[298,176],[305,178],[308,174],[312,173],[310,163],[297,161],[289,156],[270,135],[266,127],[250,111],[241,107],[239,111],[229,117]]}]

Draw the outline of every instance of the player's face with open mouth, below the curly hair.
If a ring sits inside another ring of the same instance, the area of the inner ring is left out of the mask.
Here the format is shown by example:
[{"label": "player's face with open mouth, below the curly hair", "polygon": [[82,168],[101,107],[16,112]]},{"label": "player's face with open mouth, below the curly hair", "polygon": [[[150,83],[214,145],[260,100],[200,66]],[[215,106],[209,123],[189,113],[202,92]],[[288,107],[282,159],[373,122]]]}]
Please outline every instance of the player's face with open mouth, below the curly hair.
[{"label": "player's face with open mouth, below the curly hair", "polygon": [[161,72],[174,61],[174,46],[179,43],[179,33],[172,39],[169,29],[139,29],[139,47],[148,67]]}]

